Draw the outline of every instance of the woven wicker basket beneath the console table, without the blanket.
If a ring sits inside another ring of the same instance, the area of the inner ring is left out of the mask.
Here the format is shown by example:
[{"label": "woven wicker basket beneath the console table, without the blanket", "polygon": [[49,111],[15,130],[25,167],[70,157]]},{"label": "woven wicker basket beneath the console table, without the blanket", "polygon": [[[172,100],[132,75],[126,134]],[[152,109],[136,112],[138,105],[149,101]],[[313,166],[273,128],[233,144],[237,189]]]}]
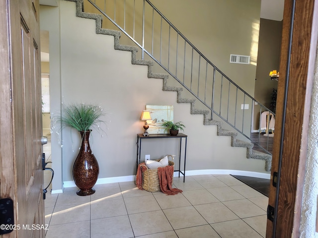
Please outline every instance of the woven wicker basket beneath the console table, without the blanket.
[{"label": "woven wicker basket beneath the console table, without the blanket", "polygon": [[[171,155],[168,155],[168,157]],[[171,156],[172,157],[172,156]],[[173,159],[173,157],[172,157]],[[160,161],[160,160],[155,160]],[[172,161],[168,161],[169,165],[174,166],[174,163]],[[159,184],[159,176],[158,176],[158,169],[156,170],[150,170],[146,165],[140,165],[145,166],[147,170],[143,172],[143,189],[149,192],[158,192],[160,191],[160,184]],[[173,179],[173,175],[172,175]]]}]

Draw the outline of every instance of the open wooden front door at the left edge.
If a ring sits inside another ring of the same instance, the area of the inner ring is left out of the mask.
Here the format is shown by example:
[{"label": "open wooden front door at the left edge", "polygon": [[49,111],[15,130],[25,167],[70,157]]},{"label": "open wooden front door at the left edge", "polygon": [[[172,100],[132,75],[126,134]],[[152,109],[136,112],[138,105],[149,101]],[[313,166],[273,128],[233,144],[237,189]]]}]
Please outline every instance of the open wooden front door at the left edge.
[{"label": "open wooden front door at the left edge", "polygon": [[2,238],[45,236],[39,31],[38,0],[0,1],[0,198],[16,229]]}]

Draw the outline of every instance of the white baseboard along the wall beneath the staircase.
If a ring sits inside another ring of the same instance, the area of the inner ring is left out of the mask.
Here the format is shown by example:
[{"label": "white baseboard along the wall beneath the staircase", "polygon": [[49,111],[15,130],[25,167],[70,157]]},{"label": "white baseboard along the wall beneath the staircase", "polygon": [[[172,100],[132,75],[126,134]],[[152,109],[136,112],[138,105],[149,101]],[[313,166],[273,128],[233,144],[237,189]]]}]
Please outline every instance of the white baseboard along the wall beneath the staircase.
[{"label": "white baseboard along the wall beneath the staircase", "polygon": [[[259,173],[252,171],[241,171],[241,170],[191,170],[185,172],[186,176],[195,176],[195,175],[239,175],[239,176],[247,176],[247,177],[255,177],[260,179],[270,179],[270,173]],[[173,177],[178,177],[179,173],[174,172]],[[183,177],[180,174],[180,177]],[[186,179],[185,179],[186,180]],[[135,181],[135,175],[131,176],[122,176],[122,177],[112,177],[112,178],[100,178],[97,179],[96,184],[106,184],[113,182],[129,182]],[[72,181],[64,181],[63,187],[75,187],[75,182]],[[54,193],[63,193],[63,190],[52,190],[52,194]]]}]

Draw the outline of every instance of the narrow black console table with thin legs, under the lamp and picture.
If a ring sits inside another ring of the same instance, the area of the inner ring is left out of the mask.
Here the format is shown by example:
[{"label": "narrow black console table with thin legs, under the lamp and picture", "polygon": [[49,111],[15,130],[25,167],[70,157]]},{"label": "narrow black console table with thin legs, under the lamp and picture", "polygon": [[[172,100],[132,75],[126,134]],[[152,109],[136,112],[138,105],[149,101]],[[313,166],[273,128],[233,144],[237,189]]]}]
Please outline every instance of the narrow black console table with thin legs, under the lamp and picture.
[{"label": "narrow black console table with thin legs, under the lamp and picture", "polygon": [[[144,136],[143,134],[137,134],[137,168],[140,164],[140,156],[141,156],[141,146],[142,146],[142,140],[143,139],[168,139],[168,138],[179,138],[180,139],[180,151],[179,151],[179,169],[175,170],[174,172],[179,172],[179,178],[180,173],[183,175],[183,182],[185,179],[185,161],[186,161],[186,152],[187,152],[187,135],[178,133],[177,135],[170,135],[170,134],[149,134],[148,136]],[[185,138],[185,147],[184,147],[184,167],[183,172],[180,170],[180,164],[181,164],[181,145],[182,145],[182,138]]]}]

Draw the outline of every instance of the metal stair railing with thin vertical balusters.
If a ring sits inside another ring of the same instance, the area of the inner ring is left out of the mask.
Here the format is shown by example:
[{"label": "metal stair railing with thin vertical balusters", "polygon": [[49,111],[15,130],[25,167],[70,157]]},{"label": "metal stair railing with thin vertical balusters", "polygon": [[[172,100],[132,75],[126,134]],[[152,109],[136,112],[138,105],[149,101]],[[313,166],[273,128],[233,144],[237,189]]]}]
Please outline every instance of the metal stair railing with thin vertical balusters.
[{"label": "metal stair railing with thin vertical balusters", "polygon": [[[146,53],[208,108],[211,120],[222,119],[254,143],[253,149],[271,154],[268,126],[275,114],[208,60],[149,0],[86,1],[141,48],[142,60]],[[265,129],[263,112],[269,115]],[[267,139],[261,142],[264,130]]]}]

